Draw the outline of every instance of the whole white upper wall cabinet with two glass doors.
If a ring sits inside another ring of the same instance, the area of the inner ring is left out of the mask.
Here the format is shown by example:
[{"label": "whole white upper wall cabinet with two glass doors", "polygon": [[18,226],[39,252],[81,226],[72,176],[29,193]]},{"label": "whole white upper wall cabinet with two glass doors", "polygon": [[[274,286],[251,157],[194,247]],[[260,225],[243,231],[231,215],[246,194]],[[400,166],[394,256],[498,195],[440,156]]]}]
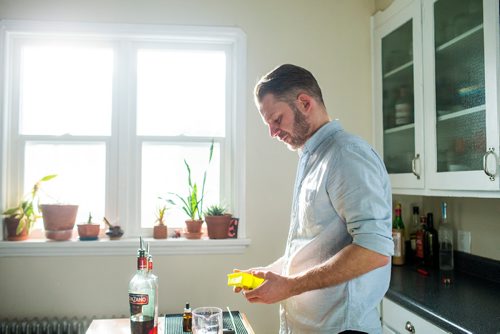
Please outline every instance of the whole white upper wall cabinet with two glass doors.
[{"label": "whole white upper wall cabinet with two glass doors", "polygon": [[498,0],[395,0],[372,24],[393,193],[500,197]]}]

